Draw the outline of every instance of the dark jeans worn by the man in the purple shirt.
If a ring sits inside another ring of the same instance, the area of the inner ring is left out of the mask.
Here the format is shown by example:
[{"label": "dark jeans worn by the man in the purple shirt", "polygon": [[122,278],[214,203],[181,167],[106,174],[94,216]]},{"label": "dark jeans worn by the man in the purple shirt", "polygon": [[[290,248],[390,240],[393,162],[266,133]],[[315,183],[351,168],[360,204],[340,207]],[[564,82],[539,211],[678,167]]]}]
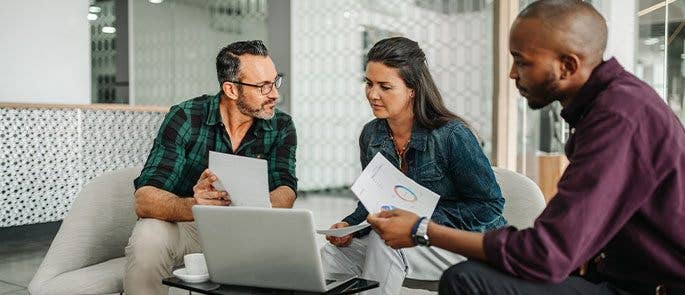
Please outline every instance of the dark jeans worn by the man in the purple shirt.
[{"label": "dark jeans worn by the man in the purple shirt", "polygon": [[471,260],[456,264],[442,274],[440,294],[631,295],[608,283],[594,284],[575,276],[559,284],[526,281]]}]

